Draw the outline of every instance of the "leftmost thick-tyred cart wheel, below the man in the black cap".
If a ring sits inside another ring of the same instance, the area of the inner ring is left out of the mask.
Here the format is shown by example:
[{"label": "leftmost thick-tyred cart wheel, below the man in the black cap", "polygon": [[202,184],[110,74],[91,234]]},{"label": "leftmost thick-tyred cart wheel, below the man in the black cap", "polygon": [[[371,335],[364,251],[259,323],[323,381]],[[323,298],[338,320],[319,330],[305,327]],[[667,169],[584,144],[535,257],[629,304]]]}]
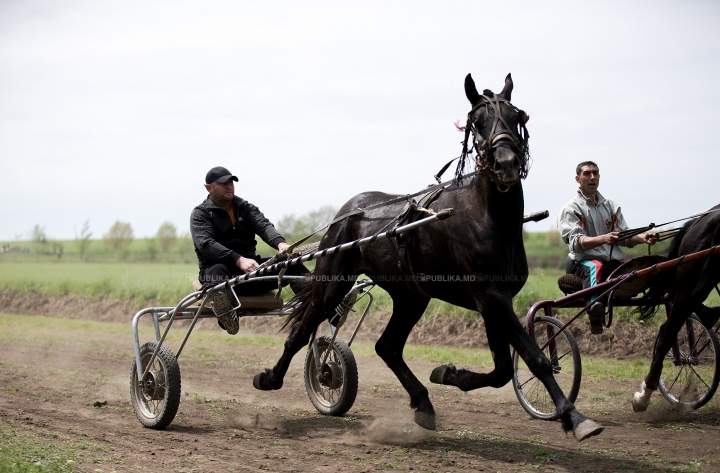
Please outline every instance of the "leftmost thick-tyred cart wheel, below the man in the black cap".
[{"label": "leftmost thick-tyred cart wheel, below the man in the black cap", "polygon": [[[156,346],[157,342],[149,342],[140,348],[143,370]],[[130,400],[135,415],[145,427],[164,429],[175,418],[180,406],[180,367],[167,345],[160,347],[142,381],[138,380],[137,365],[133,360],[130,370]]]}]

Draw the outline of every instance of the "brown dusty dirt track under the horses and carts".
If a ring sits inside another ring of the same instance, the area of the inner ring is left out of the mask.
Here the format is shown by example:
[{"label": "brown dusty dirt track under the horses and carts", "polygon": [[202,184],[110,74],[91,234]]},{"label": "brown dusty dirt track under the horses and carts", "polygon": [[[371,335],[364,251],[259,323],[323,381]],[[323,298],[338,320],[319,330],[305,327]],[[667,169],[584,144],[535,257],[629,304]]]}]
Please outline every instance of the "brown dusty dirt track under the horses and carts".
[{"label": "brown dusty dirt track under the horses and carts", "polygon": [[[407,394],[376,356],[356,355],[358,399],[333,418],[307,399],[304,356],[282,390],[254,390],[252,376],[280,354],[258,345],[191,343],[175,422],[144,429],[129,402],[129,324],[106,325],[2,327],[0,422],[41,442],[84,442],[76,471],[720,471],[718,404],[677,413],[656,395],[648,413],[634,414],[639,381],[584,378],[576,404],[606,429],[580,444],[559,423],[530,419],[510,386],[462,393],[425,381],[438,415],[429,432],[412,422]],[[435,366],[409,365],[421,380]]]}]

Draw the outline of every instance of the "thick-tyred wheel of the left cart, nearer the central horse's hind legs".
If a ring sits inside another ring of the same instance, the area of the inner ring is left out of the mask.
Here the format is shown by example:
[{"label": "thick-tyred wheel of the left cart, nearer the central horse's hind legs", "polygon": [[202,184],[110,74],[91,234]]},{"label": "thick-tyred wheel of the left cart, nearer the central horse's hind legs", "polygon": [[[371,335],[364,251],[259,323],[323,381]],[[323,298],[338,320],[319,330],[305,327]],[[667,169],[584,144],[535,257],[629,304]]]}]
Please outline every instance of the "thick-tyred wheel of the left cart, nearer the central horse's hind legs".
[{"label": "thick-tyred wheel of the left cart, nearer the central horse's hind legs", "polygon": [[305,390],[318,412],[340,416],[350,410],[357,397],[357,363],[347,343],[335,338],[330,346],[330,340],[327,335],[317,340],[320,361],[325,360],[320,368],[315,362],[312,346],[308,350],[305,357]]}]

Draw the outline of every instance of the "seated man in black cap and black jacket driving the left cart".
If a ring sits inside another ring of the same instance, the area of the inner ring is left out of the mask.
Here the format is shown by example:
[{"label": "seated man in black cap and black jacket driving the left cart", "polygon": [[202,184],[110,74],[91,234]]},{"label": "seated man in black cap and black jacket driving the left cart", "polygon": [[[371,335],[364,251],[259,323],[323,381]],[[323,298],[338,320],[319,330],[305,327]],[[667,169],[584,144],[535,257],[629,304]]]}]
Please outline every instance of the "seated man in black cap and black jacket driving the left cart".
[{"label": "seated man in black cap and black jacket driving the left cart", "polygon": [[[237,177],[217,166],[205,176],[208,197],[195,207],[190,216],[190,233],[200,264],[200,282],[217,285],[259,267],[267,258],[255,252],[255,235],[278,251],[290,245],[256,206],[235,195]],[[288,275],[309,274],[303,265],[288,268]],[[293,284],[294,290],[297,286]],[[277,281],[254,281],[235,287],[238,296],[263,294],[277,288]],[[213,296],[218,323],[231,335],[239,330],[238,317],[230,310],[237,305],[231,291]]]}]

